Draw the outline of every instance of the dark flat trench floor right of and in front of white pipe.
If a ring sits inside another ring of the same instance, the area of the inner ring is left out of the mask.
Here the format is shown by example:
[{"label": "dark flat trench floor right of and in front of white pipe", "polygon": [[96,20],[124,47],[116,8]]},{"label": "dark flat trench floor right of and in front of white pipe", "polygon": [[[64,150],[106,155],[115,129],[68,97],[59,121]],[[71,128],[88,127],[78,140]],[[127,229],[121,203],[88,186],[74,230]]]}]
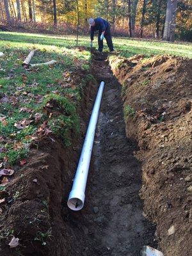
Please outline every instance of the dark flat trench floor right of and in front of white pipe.
[{"label": "dark flat trench floor right of and in front of white pipe", "polygon": [[139,196],[141,164],[134,157],[138,145],[126,138],[121,86],[107,54],[94,53],[92,68],[98,83],[104,80],[106,85],[84,209],[63,207],[65,221],[74,225],[72,255],[138,256],[144,245],[156,246],[155,227],[144,218]]}]

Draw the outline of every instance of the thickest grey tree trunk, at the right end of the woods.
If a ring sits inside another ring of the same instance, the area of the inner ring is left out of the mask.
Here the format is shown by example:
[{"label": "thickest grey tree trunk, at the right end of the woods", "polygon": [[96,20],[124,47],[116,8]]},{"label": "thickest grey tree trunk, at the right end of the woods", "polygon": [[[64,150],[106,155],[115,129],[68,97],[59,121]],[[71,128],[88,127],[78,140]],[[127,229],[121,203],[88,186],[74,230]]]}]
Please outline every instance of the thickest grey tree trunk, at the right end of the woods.
[{"label": "thickest grey tree trunk, at the right end of the woods", "polygon": [[174,42],[176,26],[177,0],[168,0],[166,6],[166,20],[164,24],[163,40]]}]

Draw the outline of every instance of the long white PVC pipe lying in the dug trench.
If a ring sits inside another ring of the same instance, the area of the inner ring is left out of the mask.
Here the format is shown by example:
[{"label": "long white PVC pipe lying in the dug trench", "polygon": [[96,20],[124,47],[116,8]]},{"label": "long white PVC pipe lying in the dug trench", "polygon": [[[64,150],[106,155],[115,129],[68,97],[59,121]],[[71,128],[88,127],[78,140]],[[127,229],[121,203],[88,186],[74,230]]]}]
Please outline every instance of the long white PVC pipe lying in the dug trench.
[{"label": "long white PVC pipe lying in the dug trench", "polygon": [[84,205],[84,191],[86,188],[86,180],[88,177],[89,166],[92,156],[93,141],[95,137],[95,128],[97,125],[97,119],[99,116],[100,101],[102,99],[102,92],[104,90],[104,82],[102,81],[97,92],[95,104],[93,106],[92,116],[84,139],[83,148],[81,150],[81,156],[79,164],[77,166],[76,176],[72,190],[68,196],[67,205],[74,211],[79,211]]}]

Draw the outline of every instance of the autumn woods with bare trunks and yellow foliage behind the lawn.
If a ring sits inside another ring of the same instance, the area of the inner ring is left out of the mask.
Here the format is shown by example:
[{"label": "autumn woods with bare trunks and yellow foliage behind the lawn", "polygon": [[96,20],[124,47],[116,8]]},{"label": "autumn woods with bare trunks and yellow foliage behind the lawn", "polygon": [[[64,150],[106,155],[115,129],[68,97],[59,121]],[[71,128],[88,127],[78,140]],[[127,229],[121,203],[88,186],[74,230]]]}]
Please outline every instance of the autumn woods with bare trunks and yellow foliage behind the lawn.
[{"label": "autumn woods with bare trunks and yellow foliage behind the lawn", "polygon": [[89,17],[113,35],[192,40],[192,0],[0,0],[1,24],[21,29],[88,33]]}]

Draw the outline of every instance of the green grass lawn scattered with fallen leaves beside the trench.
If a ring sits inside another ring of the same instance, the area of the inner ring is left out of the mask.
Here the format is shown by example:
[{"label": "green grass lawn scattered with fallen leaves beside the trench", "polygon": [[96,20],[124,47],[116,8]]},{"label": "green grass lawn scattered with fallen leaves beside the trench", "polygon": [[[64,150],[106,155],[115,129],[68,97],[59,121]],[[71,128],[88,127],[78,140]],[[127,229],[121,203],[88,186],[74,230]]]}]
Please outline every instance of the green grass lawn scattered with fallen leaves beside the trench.
[{"label": "green grass lawn scattered with fallen leaves beside the trench", "polygon": [[[80,36],[79,45],[89,46],[89,36]],[[114,38],[121,56],[134,54],[174,54],[192,58],[192,44],[169,44],[129,38]],[[60,134],[68,145],[68,131],[78,131],[76,108],[81,92],[90,76],[91,54],[77,51],[75,36],[48,36],[29,33],[0,32],[0,165],[12,166],[28,155],[29,143],[39,134]],[[97,47],[97,37],[94,40]],[[54,67],[26,70],[22,61],[29,50],[36,49],[31,63],[56,60]],[[106,43],[105,43],[105,49]],[[79,86],[72,74],[77,68],[86,71]],[[53,115],[51,104],[66,115]],[[49,108],[49,111],[47,111]],[[64,111],[65,110],[65,111]]]}]

